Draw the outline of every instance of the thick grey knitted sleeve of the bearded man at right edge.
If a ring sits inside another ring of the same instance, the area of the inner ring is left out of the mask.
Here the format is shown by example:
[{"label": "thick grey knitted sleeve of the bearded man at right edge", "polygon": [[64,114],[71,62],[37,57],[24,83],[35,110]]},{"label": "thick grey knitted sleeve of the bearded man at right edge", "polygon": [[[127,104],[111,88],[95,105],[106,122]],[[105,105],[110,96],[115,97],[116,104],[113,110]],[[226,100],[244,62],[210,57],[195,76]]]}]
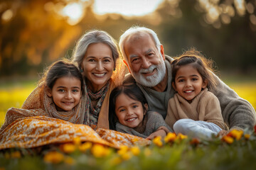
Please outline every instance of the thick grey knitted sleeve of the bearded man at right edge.
[{"label": "thick grey knitted sleeve of the bearded man at right edge", "polygon": [[230,129],[253,128],[256,124],[256,113],[252,105],[240,98],[230,87],[215,76],[217,88],[212,91],[220,101],[224,122]]}]

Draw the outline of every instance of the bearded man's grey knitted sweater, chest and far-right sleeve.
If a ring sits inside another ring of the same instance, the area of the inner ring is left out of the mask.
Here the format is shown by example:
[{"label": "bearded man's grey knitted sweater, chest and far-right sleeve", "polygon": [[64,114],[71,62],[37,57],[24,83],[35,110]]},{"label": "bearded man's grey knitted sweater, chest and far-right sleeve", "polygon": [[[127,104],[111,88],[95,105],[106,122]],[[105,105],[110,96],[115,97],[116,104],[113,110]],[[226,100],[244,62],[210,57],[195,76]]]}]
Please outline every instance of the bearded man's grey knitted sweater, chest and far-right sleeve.
[{"label": "bearded man's grey knitted sweater, chest and far-right sleeve", "polygon": [[[138,84],[142,89],[146,100],[149,103],[149,109],[156,111],[166,118],[166,111],[168,108],[168,101],[174,97],[175,91],[171,86],[171,61],[173,59],[169,56],[165,56],[165,64],[167,68],[168,80],[166,91],[155,91],[147,86]],[[228,127],[236,129],[245,129],[247,127],[252,128],[256,124],[256,113],[252,105],[243,98],[240,98],[238,94],[230,89],[223,81],[217,76],[214,77],[217,81],[217,88],[215,91],[211,91],[220,101],[221,113],[223,115],[224,122]],[[126,82],[134,81],[131,74],[127,74],[124,80]]]}]

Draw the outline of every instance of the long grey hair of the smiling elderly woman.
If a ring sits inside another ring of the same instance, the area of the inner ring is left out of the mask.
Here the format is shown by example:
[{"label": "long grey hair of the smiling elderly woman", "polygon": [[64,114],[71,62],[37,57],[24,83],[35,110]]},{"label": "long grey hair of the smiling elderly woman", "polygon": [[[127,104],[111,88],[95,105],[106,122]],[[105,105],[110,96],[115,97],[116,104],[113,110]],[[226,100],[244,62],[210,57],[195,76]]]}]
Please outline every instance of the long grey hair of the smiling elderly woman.
[{"label": "long grey hair of the smiling elderly woman", "polygon": [[73,51],[73,62],[78,62],[79,69],[81,69],[82,60],[85,57],[88,46],[99,42],[110,46],[115,67],[117,58],[119,57],[117,42],[112,38],[112,36],[103,30],[90,30],[82,35],[75,45],[75,50]]}]

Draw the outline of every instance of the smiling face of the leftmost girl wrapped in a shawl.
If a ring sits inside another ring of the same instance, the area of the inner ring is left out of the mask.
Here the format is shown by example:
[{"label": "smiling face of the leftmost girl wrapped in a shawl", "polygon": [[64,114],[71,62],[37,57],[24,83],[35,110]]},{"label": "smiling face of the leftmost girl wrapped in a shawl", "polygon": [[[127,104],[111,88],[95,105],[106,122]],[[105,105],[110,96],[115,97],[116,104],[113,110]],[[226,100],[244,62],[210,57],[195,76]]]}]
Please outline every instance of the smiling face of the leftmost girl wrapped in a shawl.
[{"label": "smiling face of the leftmost girl wrapped in a shawl", "polygon": [[55,81],[53,89],[48,89],[48,96],[53,97],[57,111],[71,111],[81,98],[81,82],[75,77],[61,77]]}]

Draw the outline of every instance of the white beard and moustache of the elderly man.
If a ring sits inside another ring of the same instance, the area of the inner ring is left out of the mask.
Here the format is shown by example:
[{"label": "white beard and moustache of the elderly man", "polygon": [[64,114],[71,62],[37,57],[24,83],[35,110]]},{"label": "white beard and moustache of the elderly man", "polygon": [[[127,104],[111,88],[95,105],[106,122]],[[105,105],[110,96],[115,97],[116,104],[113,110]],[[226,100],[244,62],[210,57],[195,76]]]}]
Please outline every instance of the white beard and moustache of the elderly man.
[{"label": "white beard and moustache of the elderly man", "polygon": [[[142,73],[152,72],[156,69],[156,73],[149,77],[144,77]],[[148,69],[140,69],[138,73],[134,73],[131,70],[132,77],[142,86],[156,86],[159,84],[163,79],[164,75],[166,74],[166,65],[164,60],[161,59],[161,62],[157,65],[151,65]]]}]

